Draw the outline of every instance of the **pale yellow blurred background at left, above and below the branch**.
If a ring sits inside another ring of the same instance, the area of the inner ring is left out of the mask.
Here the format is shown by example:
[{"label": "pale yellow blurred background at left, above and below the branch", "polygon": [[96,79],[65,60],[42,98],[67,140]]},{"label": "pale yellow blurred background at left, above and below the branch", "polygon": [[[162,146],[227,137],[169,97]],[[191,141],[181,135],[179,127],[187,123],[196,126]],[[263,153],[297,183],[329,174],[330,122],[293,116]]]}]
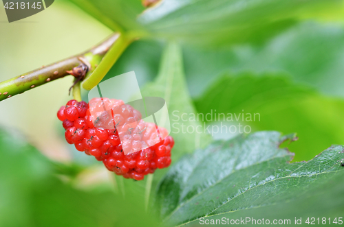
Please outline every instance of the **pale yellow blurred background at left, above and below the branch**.
[{"label": "pale yellow blurred background at left, above and below the branch", "polygon": [[[1,81],[85,51],[111,34],[107,27],[66,1],[56,1],[51,9],[14,23],[8,23],[3,7],[0,16]],[[71,83],[72,78],[65,77],[3,101],[1,110],[7,113],[1,114],[1,124],[28,135],[47,156],[70,160],[52,128],[57,124],[56,108],[69,100]]]}]

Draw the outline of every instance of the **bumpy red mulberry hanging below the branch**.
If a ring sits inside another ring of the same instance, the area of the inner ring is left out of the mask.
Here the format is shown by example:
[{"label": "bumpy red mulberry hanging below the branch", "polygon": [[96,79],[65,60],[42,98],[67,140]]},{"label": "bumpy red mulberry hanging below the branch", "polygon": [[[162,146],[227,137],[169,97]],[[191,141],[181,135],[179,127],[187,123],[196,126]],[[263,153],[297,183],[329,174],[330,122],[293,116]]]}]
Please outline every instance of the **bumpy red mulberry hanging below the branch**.
[{"label": "bumpy red mulberry hanging below the branch", "polygon": [[70,100],[57,117],[69,144],[103,161],[117,175],[143,180],[171,164],[173,138],[164,128],[144,122],[140,112],[122,100],[95,98],[89,104]]}]

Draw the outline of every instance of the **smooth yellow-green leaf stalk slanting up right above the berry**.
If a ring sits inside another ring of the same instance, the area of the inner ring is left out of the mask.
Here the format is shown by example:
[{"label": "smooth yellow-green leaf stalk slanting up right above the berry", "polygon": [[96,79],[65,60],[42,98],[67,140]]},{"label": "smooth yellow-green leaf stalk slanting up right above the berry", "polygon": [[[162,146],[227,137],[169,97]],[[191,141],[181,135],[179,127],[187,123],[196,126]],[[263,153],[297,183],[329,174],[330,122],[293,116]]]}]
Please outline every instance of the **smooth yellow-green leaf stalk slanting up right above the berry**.
[{"label": "smooth yellow-green leaf stalk slanting up right above the berry", "polygon": [[118,34],[116,43],[114,43],[109,51],[107,51],[98,67],[90,73],[91,75],[86,76],[85,80],[83,80],[83,88],[91,90],[99,84],[132,41],[133,38],[129,38],[129,36],[125,36],[123,34]]}]

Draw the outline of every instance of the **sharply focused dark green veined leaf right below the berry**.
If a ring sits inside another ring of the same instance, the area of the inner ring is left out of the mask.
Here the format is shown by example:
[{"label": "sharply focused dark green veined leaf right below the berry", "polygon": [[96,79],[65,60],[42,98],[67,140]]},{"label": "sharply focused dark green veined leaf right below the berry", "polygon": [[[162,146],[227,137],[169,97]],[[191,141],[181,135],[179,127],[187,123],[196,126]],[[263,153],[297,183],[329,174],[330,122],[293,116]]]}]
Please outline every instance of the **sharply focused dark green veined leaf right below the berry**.
[{"label": "sharply focused dark green veined leaf right below the berry", "polygon": [[343,146],[334,145],[308,162],[290,164],[293,154],[279,148],[288,138],[278,132],[256,132],[215,141],[184,156],[158,187],[164,222],[195,224],[202,217],[230,218],[248,209],[259,212],[307,198],[330,180],[343,177]]}]

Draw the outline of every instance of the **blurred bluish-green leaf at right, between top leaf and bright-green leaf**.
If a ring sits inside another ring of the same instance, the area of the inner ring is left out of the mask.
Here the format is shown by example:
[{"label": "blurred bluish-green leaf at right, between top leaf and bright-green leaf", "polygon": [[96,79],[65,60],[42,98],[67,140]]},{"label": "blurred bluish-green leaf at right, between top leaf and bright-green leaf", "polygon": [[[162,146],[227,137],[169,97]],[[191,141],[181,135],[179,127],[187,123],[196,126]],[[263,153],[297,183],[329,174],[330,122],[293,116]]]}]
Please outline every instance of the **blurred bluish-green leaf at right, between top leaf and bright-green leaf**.
[{"label": "blurred bluish-green leaf at right, between top leaf and bright-green leaf", "polygon": [[185,46],[185,71],[193,97],[202,95],[207,85],[225,72],[247,71],[283,73],[327,95],[344,97],[343,49],[343,25],[305,22],[260,45],[223,49]]}]

